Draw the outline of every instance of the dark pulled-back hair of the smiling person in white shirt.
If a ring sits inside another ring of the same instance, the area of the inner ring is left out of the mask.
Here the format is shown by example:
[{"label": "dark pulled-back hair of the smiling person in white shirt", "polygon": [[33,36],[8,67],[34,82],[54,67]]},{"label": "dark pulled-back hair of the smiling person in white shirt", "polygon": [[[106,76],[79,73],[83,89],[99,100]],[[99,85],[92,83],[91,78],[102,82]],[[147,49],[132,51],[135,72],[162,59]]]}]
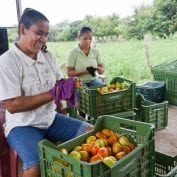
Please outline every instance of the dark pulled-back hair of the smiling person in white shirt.
[{"label": "dark pulled-back hair of the smiling person in white shirt", "polygon": [[[23,14],[20,17],[20,21],[18,24],[18,33],[20,35],[20,25],[23,24],[25,26],[25,28],[29,29],[34,23],[38,22],[38,21],[47,21],[49,22],[49,20],[47,19],[47,17],[42,14],[41,12],[32,9],[32,8],[26,8],[23,11]],[[44,45],[41,49],[43,52],[47,52],[47,46]]]}]

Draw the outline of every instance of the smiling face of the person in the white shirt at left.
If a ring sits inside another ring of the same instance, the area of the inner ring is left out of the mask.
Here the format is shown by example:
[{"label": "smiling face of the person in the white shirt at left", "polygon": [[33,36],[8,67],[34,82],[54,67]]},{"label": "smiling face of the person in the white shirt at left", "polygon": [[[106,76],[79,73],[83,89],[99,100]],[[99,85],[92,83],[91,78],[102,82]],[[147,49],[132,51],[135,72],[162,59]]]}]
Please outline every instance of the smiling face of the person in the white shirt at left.
[{"label": "smiling face of the person in the white shirt at left", "polygon": [[38,21],[29,29],[24,28],[23,39],[25,46],[31,53],[39,52],[47,41],[49,23],[47,21]]}]

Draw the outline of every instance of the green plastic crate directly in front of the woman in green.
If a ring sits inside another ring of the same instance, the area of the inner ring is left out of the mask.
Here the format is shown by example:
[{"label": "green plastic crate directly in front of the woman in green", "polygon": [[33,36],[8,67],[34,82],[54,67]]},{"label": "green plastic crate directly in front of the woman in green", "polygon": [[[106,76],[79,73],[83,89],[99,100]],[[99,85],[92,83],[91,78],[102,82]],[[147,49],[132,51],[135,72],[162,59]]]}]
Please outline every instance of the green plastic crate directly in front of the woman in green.
[{"label": "green plastic crate directly in front of the woman in green", "polygon": [[102,86],[82,86],[79,89],[80,110],[94,118],[105,114],[132,110],[135,105],[135,83],[121,77],[115,77],[110,84],[124,81],[129,84],[127,89],[106,94],[100,94],[96,90]]}]

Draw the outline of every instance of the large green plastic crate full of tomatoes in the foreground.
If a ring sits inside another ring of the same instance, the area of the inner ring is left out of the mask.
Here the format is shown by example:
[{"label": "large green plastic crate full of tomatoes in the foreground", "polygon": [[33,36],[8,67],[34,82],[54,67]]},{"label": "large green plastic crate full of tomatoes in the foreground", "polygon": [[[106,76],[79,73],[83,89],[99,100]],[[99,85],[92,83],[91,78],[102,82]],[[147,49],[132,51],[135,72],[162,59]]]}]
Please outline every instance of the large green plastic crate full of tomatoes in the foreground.
[{"label": "large green plastic crate full of tomatoes in the foreground", "polygon": [[55,145],[39,143],[43,177],[149,177],[154,174],[154,126],[101,116],[95,127]]}]

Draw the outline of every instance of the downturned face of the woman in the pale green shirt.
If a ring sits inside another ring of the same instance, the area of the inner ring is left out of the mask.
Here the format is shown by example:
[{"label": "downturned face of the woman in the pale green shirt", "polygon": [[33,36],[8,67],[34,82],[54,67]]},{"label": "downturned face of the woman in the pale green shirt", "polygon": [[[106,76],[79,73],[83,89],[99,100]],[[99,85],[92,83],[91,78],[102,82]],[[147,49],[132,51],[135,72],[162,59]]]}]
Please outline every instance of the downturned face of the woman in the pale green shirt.
[{"label": "downturned face of the woman in the pale green shirt", "polygon": [[92,36],[92,32],[83,33],[83,35],[79,37],[80,47],[89,48],[92,42]]}]

